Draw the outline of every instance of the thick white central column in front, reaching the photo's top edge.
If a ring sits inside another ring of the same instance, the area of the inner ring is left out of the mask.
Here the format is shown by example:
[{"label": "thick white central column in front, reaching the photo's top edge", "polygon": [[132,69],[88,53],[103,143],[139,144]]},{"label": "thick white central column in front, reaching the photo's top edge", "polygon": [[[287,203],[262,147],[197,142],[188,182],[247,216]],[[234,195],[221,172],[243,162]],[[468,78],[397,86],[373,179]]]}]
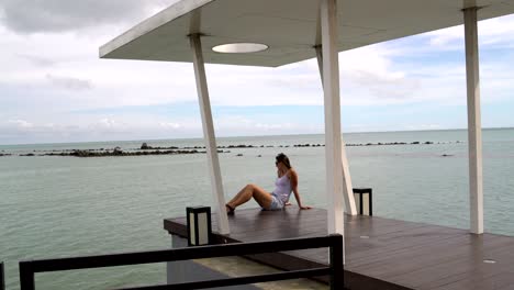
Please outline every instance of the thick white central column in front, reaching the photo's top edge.
[{"label": "thick white central column in front, reaching the photo's top edge", "polygon": [[339,59],[337,55],[336,0],[320,5],[323,90],[325,93],[325,163],[328,234],[345,234],[343,209],[343,167],[340,142]]}]

